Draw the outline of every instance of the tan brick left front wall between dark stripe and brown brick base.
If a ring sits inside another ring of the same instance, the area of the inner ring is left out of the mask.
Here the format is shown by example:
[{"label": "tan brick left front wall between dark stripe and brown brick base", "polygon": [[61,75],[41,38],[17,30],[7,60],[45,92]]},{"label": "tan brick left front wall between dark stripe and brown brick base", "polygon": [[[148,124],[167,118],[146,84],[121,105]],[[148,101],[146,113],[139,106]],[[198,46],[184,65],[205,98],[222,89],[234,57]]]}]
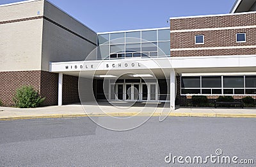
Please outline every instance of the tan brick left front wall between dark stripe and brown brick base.
[{"label": "tan brick left front wall between dark stripe and brown brick base", "polygon": [[0,72],[41,69],[43,19],[0,24]]}]

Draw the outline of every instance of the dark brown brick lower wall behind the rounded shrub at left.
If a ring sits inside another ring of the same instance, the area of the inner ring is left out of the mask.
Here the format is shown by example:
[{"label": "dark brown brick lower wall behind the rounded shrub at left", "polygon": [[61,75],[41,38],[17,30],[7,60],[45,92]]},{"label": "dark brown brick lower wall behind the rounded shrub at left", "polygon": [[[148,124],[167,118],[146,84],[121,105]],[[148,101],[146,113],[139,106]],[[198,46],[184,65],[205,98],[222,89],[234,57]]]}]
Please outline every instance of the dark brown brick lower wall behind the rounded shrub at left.
[{"label": "dark brown brick lower wall behind the rounded shrub at left", "polygon": [[[42,106],[58,105],[58,74],[45,71],[0,72],[0,99],[13,106],[12,98],[21,86],[31,85],[45,101]],[[78,77],[63,75],[63,104],[79,102]]]}]

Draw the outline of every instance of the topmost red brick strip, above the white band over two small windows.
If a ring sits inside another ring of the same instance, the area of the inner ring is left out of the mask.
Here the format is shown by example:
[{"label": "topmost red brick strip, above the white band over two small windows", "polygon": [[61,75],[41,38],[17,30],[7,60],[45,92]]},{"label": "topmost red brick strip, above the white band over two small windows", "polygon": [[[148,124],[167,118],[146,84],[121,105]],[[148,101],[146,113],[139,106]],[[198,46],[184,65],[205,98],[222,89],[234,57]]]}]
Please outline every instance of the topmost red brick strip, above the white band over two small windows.
[{"label": "topmost red brick strip, above the white band over two small windows", "polygon": [[256,25],[256,13],[242,15],[223,15],[215,17],[195,17],[186,19],[171,19],[171,30],[226,28],[236,26]]}]

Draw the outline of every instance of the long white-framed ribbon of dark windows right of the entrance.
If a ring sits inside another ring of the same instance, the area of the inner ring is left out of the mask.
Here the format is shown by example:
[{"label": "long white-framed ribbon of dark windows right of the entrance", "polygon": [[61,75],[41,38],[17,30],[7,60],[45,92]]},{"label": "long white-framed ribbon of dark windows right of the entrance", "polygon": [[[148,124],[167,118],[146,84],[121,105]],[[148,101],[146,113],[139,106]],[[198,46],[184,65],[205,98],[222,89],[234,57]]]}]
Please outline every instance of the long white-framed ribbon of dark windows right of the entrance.
[{"label": "long white-framed ribbon of dark windows right of the entrance", "polygon": [[256,76],[182,76],[180,81],[181,94],[256,94]]}]

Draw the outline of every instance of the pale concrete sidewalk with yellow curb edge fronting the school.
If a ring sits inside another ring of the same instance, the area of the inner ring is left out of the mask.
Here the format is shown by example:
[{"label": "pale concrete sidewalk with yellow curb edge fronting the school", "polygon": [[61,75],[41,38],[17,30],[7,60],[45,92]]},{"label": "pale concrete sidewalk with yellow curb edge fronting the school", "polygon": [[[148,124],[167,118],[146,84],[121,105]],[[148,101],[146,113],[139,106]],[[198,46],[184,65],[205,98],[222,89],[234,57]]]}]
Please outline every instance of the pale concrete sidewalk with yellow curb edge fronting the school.
[{"label": "pale concrete sidewalk with yellow curb edge fronting the school", "polygon": [[[104,112],[99,111],[102,109]],[[159,116],[161,113],[168,116],[212,116],[212,117],[246,117],[256,118],[256,108],[239,109],[239,108],[196,108],[196,107],[180,107],[172,110],[170,108],[159,107],[125,107],[125,106],[109,106],[102,104],[100,106],[88,105],[84,106],[87,113],[84,112],[80,104],[70,104],[67,106],[49,106],[31,109],[20,109],[15,107],[0,107],[0,120],[13,119],[31,119],[31,118],[63,118],[74,116],[133,116],[133,115],[152,115]],[[156,109],[156,111],[155,111]],[[163,111],[164,109],[164,111]],[[142,111],[143,110],[143,111]],[[155,112],[154,112],[155,111]],[[140,114],[138,114],[140,113]]]}]

